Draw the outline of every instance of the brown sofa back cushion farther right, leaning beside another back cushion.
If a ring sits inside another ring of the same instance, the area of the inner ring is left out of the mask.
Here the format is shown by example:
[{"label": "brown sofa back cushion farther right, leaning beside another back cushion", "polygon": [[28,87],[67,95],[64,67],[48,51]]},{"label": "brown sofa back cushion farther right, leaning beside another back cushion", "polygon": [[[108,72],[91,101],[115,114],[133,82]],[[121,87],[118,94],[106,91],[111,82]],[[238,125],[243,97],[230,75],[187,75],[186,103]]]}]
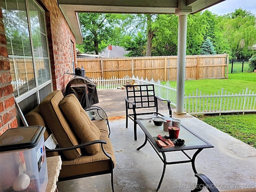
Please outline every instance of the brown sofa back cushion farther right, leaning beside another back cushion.
[{"label": "brown sofa back cushion farther right, leaning beside another back cushion", "polygon": [[[89,116],[84,113],[84,109],[77,98],[67,96],[60,102],[59,106],[82,143],[100,139],[100,130],[92,123]],[[89,155],[94,155],[99,152],[100,145],[86,146],[85,150]]]}]

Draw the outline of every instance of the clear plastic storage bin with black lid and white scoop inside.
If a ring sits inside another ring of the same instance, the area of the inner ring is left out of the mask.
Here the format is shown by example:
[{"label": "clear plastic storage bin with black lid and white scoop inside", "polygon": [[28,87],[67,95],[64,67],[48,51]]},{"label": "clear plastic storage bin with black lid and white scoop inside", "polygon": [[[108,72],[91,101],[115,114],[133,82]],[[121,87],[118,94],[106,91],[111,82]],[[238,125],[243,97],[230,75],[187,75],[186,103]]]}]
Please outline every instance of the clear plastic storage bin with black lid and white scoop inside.
[{"label": "clear plastic storage bin with black lid and white scoop inside", "polygon": [[0,136],[0,192],[45,192],[48,183],[42,126],[8,129]]}]

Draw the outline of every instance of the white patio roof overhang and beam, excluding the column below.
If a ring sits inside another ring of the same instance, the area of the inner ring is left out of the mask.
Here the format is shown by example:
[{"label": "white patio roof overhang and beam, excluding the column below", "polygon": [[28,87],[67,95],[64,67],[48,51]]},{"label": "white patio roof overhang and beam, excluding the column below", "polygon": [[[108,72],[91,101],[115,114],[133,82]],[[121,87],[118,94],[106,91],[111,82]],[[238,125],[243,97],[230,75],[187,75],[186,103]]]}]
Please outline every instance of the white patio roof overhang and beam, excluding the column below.
[{"label": "white patio roof overhang and beam, excluding the column below", "polygon": [[222,1],[224,0],[58,0],[58,4],[76,37],[76,43],[82,44],[77,12],[175,14],[178,10],[184,10],[193,14]]}]

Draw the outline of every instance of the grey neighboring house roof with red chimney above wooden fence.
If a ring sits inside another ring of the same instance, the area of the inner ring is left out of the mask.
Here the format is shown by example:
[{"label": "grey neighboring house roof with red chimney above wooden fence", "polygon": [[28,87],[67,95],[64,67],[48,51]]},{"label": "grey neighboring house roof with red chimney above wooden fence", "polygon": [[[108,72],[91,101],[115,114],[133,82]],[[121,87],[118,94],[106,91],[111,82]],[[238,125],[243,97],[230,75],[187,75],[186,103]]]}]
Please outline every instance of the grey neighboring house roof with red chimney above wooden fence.
[{"label": "grey neighboring house roof with red chimney above wooden fence", "polygon": [[100,52],[100,55],[107,58],[124,57],[125,54],[128,54],[128,51],[117,45],[109,45],[102,52]]}]

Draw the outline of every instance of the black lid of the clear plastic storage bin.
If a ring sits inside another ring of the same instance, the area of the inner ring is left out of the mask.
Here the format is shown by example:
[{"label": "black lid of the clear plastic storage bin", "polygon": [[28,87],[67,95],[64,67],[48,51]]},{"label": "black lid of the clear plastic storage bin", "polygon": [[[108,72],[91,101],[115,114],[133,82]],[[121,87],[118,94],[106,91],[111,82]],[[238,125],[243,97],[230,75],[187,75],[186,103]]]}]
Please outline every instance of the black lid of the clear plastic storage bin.
[{"label": "black lid of the clear plastic storage bin", "polygon": [[6,130],[0,136],[0,152],[34,148],[45,129],[43,126],[28,126]]}]

